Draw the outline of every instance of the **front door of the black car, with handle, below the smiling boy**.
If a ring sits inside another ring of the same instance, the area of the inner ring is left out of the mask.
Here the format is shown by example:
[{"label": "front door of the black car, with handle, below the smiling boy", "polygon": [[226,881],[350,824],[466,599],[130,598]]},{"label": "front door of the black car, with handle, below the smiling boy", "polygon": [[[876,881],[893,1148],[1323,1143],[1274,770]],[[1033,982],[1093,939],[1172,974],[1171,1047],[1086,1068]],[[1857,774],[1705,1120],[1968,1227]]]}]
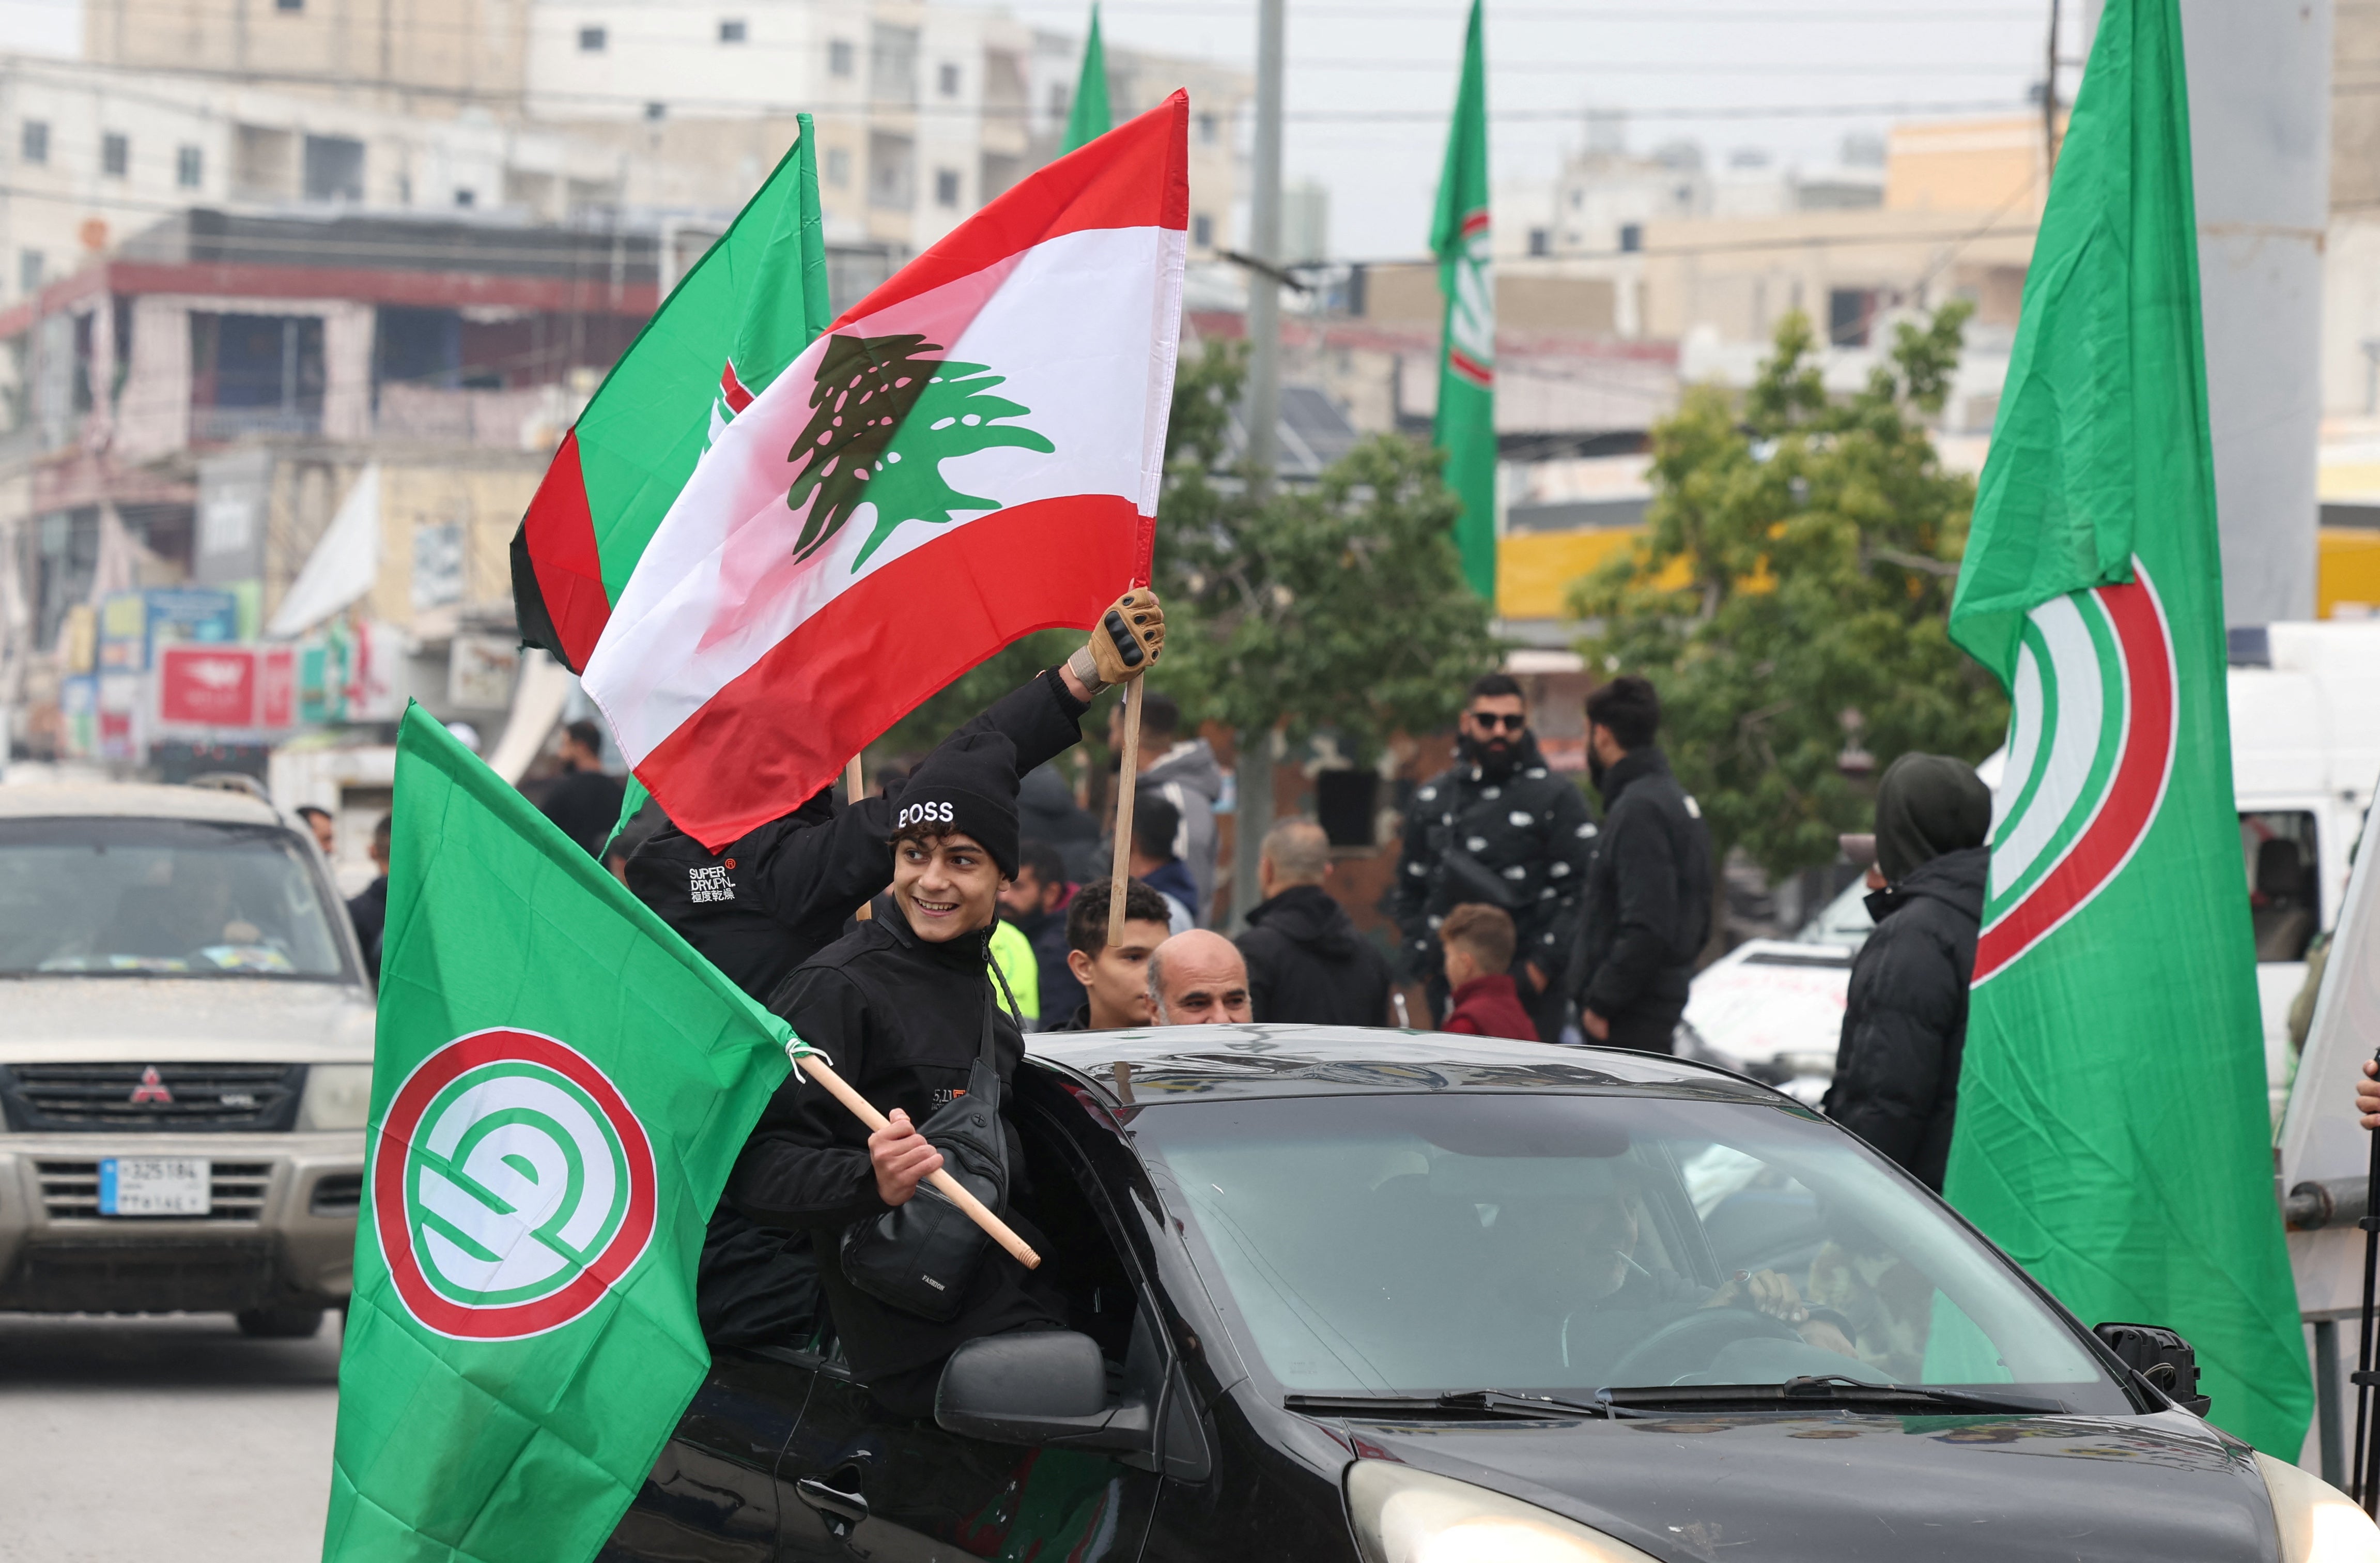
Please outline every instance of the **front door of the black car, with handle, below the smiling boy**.
[{"label": "front door of the black car, with handle, below the smiling boy", "polygon": [[[1019,1116],[1050,1275],[1066,1292],[1069,1323],[1100,1342],[1126,1392],[1154,1396],[1159,1385],[1133,1382],[1166,1373],[1147,1301],[1054,1132]],[[788,1563],[1140,1556],[1157,1504],[1154,1458],[959,1437],[885,1413],[840,1361],[812,1361],[816,1387],[778,1461]]]}]

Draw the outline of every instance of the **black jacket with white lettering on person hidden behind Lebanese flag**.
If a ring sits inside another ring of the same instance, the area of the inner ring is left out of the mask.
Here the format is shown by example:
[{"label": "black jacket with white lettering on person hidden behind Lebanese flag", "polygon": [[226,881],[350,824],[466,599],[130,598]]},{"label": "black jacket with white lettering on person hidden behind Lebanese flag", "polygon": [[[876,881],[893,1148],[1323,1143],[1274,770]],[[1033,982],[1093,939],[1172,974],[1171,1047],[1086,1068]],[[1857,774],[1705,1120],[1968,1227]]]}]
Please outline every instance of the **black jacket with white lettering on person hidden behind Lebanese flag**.
[{"label": "black jacket with white lettering on person hidden behind Lebanese flag", "polygon": [[[1083,737],[1083,707],[1047,671],[1002,695],[959,733],[990,730],[1016,745],[1016,773]],[[766,999],[785,975],[833,944],[843,923],[892,883],[900,787],[835,806],[828,792],[709,852],[664,826],[628,859],[628,890],[709,956],[735,987]]]}]

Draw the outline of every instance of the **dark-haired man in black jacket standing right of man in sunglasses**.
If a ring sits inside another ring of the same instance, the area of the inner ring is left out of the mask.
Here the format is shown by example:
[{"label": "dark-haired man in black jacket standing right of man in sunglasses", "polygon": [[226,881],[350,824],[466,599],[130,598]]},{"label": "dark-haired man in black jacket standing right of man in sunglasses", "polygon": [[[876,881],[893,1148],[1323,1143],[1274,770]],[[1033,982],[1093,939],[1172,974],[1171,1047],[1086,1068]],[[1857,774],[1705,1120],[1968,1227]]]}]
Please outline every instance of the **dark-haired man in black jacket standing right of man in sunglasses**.
[{"label": "dark-haired man in black jacket standing right of man in sunglasses", "polygon": [[1587,771],[1604,828],[1578,909],[1578,1028],[1599,1047],[1676,1049],[1695,956],[1711,935],[1711,833],[1654,745],[1661,697],[1642,678],[1587,695]]}]

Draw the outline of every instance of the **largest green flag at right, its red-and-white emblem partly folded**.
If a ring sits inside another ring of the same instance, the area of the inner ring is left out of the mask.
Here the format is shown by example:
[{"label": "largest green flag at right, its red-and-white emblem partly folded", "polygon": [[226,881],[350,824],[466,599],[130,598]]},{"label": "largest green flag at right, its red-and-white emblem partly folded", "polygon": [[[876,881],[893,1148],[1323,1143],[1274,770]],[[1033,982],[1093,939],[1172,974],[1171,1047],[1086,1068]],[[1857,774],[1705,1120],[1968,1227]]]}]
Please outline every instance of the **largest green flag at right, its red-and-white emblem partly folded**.
[{"label": "largest green flag at right, its red-and-white emblem partly folded", "polygon": [[2180,1330],[2213,1420],[2294,1461],[2197,255],[2175,0],[2109,0],[1949,621],[2013,711],[1947,1194],[2085,1323]]}]

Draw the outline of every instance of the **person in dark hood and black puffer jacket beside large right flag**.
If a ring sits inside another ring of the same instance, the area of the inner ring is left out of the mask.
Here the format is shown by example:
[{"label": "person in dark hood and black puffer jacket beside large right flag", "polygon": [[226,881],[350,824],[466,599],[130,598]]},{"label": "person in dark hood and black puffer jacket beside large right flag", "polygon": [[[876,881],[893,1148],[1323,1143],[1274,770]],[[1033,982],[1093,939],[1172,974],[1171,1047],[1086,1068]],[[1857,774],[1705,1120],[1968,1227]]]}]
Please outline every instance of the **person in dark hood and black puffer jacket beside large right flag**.
[{"label": "person in dark hood and black puffer jacket beside large right flag", "polygon": [[[1992,792],[1966,761],[1902,754],[1875,790],[1875,933],[1852,961],[1825,1116],[1942,1192]],[[1844,845],[1852,845],[1849,840]]]}]

